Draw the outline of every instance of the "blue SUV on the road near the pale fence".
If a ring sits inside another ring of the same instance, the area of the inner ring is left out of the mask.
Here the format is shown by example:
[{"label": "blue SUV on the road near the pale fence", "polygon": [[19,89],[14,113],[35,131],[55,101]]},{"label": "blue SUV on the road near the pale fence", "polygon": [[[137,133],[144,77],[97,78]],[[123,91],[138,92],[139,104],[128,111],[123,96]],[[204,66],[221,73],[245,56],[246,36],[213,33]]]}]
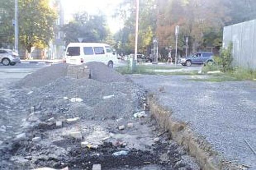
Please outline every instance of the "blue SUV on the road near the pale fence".
[{"label": "blue SUV on the road near the pale fence", "polygon": [[213,63],[212,52],[196,52],[193,55],[180,59],[180,64],[183,66],[191,66],[192,64]]}]

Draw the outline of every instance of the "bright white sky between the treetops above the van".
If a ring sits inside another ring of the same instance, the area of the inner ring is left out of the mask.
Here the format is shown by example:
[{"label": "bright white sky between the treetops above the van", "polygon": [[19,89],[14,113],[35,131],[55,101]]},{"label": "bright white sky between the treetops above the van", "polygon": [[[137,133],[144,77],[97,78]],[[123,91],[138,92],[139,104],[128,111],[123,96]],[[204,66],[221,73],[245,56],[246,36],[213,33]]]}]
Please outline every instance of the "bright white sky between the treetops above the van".
[{"label": "bright white sky between the treetops above the van", "polygon": [[63,0],[66,20],[79,11],[87,11],[91,15],[103,13],[107,16],[107,22],[112,33],[116,33],[123,27],[123,23],[114,19],[112,15],[121,0]]}]

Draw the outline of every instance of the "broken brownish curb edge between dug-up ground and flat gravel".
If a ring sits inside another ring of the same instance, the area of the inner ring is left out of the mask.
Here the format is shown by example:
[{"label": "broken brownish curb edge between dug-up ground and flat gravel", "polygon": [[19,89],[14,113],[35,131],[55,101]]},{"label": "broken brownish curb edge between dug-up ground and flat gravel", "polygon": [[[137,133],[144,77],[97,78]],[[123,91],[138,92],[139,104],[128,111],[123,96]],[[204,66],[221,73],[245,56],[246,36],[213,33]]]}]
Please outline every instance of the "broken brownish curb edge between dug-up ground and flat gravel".
[{"label": "broken brownish curb edge between dug-up ground and flat gravel", "polygon": [[202,170],[241,170],[242,166],[227,161],[212,149],[200,136],[195,135],[183,122],[171,118],[171,111],[160,105],[152,94],[148,96],[149,113],[161,128],[169,132],[172,139],[195,157]]}]

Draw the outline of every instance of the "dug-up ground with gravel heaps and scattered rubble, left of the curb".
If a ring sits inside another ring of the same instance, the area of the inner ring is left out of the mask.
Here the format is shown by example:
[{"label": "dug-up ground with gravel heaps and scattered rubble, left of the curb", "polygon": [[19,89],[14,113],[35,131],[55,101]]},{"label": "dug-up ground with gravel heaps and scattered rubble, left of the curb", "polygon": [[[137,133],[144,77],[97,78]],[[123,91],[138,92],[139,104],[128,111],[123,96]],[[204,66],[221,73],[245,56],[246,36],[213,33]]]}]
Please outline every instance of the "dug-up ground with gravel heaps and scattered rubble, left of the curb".
[{"label": "dug-up ground with gravel heaps and scattered rubble, left of the curb", "polygon": [[51,66],[5,89],[1,170],[200,169],[151,118],[143,89],[105,65],[88,67],[92,79],[68,78],[68,66]]}]

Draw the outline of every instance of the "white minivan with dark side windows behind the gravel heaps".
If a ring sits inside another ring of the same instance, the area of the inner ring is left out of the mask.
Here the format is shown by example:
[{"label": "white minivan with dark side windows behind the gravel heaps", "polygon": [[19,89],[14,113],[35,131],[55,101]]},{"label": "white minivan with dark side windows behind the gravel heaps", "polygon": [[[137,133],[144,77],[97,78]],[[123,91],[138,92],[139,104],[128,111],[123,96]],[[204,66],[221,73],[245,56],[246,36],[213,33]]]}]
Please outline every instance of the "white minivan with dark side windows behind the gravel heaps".
[{"label": "white minivan with dark side windows behind the gravel heaps", "polygon": [[66,48],[64,62],[67,64],[84,64],[91,61],[105,63],[113,68],[117,55],[111,46],[102,43],[70,43]]}]

